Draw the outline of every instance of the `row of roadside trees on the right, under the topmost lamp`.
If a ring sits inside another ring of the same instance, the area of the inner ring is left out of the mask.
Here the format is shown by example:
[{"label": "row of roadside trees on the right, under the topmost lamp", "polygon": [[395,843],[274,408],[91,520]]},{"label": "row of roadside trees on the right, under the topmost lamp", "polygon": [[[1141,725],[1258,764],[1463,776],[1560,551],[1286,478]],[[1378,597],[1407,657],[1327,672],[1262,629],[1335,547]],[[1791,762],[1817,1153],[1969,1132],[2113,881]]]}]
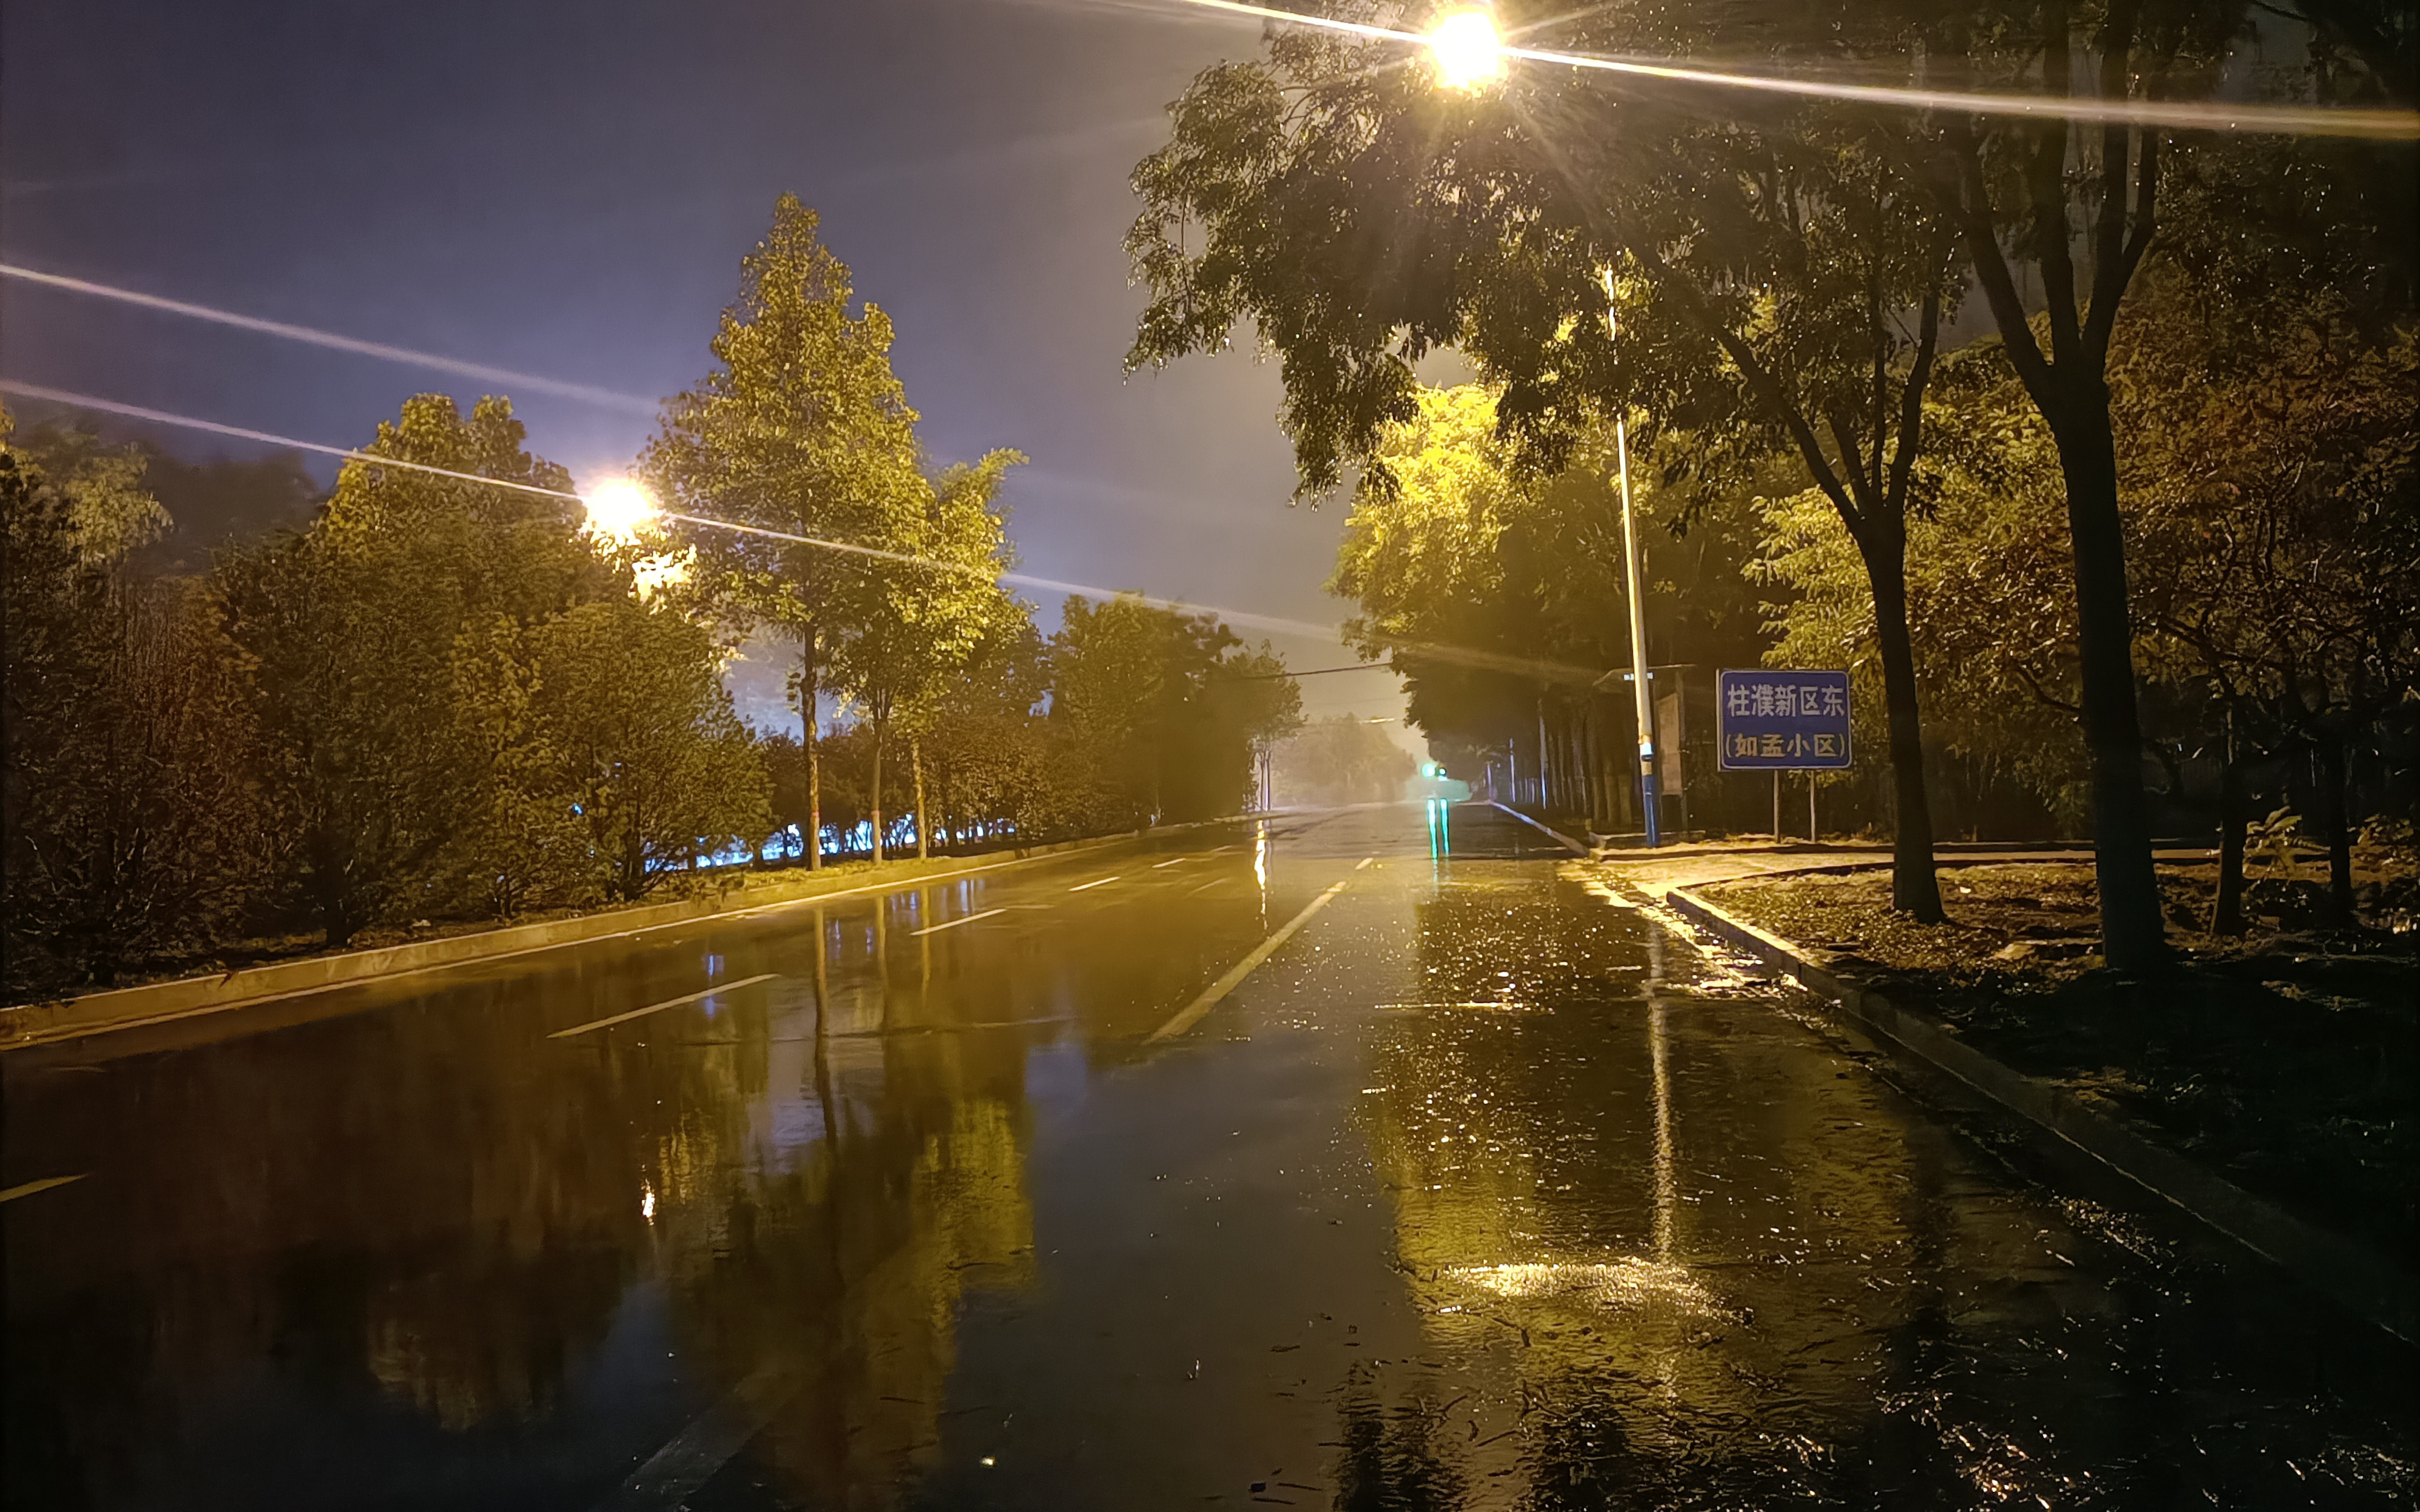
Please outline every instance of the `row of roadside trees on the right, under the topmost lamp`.
[{"label": "row of roadside trees on the right, under the topmost lamp", "polygon": [[[1367,19],[1358,5],[1324,10]],[[2372,689],[2357,694],[2369,709],[2410,685],[2410,617],[2393,619],[2410,573],[2393,547],[2372,554],[2355,590],[2386,605],[2389,624],[2372,614],[2335,636],[2328,673],[2275,646],[2219,656],[2217,624],[2190,607],[2226,602],[2226,573],[2292,598],[2284,585],[2309,583],[2321,561],[2314,542],[2376,542],[2381,525],[2410,515],[2408,448],[2393,440],[2396,426],[2408,435],[2393,394],[2410,387],[2410,145],[2238,138],[2161,119],[2168,99],[2222,94],[2410,106],[2408,19],[2360,2],[2277,15],[2238,0],[1498,15],[1500,27],[1527,24],[1532,44],[1578,53],[2081,97],[2110,123],[1544,65],[1440,90],[1425,68],[1399,65],[1396,44],[1273,29],[1263,60],[1193,82],[1169,145],[1135,172],[1145,213],[1128,247],[1154,298],[1130,360],[1217,351],[1234,324],[1258,324],[1283,363],[1304,494],[1360,474],[1355,510],[1370,530],[1348,542],[1338,588],[1370,610],[1372,648],[1394,651],[1437,694],[1459,682],[1476,702],[1534,706],[1551,677],[1508,699],[1503,677],[1491,687],[1437,665],[1408,646],[1428,636],[1389,622],[1387,585],[1416,578],[1389,564],[1406,537],[1384,525],[1421,513],[1399,460],[1437,419],[1416,377],[1430,351],[1452,346],[1479,368],[1503,472],[1529,489],[1575,460],[1602,464],[1614,416],[1629,416],[1660,513],[1679,530],[1759,496],[1798,498],[1762,559],[1788,588],[1822,566],[1854,605],[1854,624],[1834,619],[1830,644],[1810,646],[1810,631],[1788,653],[1863,660],[1873,675],[1900,907],[1941,917],[1924,663],[1951,665],[1943,614],[1970,612],[1967,629],[2004,653],[1992,663],[1999,685],[1975,682],[1982,697],[2038,699],[2064,716],[2069,738],[2055,745],[2079,750],[2088,774],[2108,960],[2149,968],[2163,958],[2163,917],[2144,668],[2156,660],[2205,706],[2248,714],[2253,697],[2280,728],[2294,723],[2292,702],[2335,709],[2355,697],[2321,685]],[[2277,48],[2263,24],[2284,27],[2294,46]],[[2229,399],[2214,397],[2214,380]],[[2231,426],[2234,402],[2284,404],[2282,389],[2294,389],[2294,402],[2326,406],[2347,385],[2362,394],[2347,402],[2369,406],[2362,423],[2265,423],[2258,443]],[[2217,477],[2212,433],[2231,464],[2268,469],[2268,484]],[[2355,433],[2374,445],[2347,472],[2338,448]],[[2335,467],[2328,477],[2343,486],[2297,472],[2311,460]],[[1943,600],[1943,614],[1919,622],[1914,585],[1938,561],[1912,552],[1941,549],[1960,489],[2001,523],[2023,513],[2021,491],[2047,498],[2052,513],[2026,515],[2026,530],[2047,532],[2047,573],[2023,573],[2021,588],[1994,576],[2006,593]],[[2241,513],[2253,498],[2284,508],[2297,489],[2304,503],[2292,508],[2309,506],[2306,520],[2282,535]],[[2147,498],[2173,506],[2159,530],[2147,530]],[[2226,510],[2238,513],[2219,523]],[[2236,527],[2268,530],[2265,544],[2246,537],[2238,566],[2209,566],[2224,552],[2207,532]],[[1575,535],[1527,525],[1505,539],[1568,552]],[[1798,554],[1813,542],[1820,561]],[[2127,571],[2130,552],[2154,549],[2193,556],[2197,576]],[[1602,559],[1500,566],[1515,605],[1496,605],[1498,619],[1551,619],[1566,610],[1554,595],[1571,593],[1619,622],[1619,598],[1585,583],[1607,576]],[[2190,605],[2163,607],[2168,590]],[[2004,617],[1984,622],[1992,605]],[[2156,648],[2139,648],[2144,636]],[[2188,651],[2195,636],[2202,648]],[[2263,692],[2214,692],[2222,660],[2236,668],[2226,687]],[[2292,738],[2323,726],[2301,719]],[[1481,733],[1430,728],[1447,743]]]}]

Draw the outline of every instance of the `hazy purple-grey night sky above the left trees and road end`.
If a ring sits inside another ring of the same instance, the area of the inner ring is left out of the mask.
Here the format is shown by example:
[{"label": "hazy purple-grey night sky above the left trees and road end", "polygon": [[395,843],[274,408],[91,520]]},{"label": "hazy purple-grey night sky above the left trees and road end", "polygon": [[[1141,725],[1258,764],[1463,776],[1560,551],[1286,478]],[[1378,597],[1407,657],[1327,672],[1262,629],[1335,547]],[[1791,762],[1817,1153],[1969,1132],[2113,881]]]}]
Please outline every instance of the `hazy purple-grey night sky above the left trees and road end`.
[{"label": "hazy purple-grey night sky above the left trees and road end", "polygon": [[[704,375],[786,189],[898,324],[932,455],[1033,457],[1007,489],[1024,571],[1321,624],[1350,607],[1319,590],[1343,503],[1287,508],[1249,331],[1120,373],[1128,172],[1256,22],[1176,0],[10,0],[0,46],[10,264],[656,399]],[[19,382],[334,445],[407,394],[479,387],[22,281],[0,319]],[[651,431],[513,402],[576,477]],[[1302,689],[1314,716],[1401,709],[1384,673]]]}]

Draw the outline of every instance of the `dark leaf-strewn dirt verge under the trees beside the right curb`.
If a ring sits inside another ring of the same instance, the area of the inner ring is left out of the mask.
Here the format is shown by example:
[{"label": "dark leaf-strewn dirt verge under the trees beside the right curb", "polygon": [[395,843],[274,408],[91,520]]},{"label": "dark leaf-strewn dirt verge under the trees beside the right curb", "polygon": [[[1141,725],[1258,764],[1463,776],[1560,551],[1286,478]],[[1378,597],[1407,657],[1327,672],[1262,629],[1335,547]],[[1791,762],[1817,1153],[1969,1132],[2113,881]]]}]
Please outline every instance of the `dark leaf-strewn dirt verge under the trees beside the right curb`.
[{"label": "dark leaf-strewn dirt verge under the trees beside the right curb", "polygon": [[2420,1270],[2420,934],[2294,929],[2318,883],[2260,878],[2251,912],[2268,927],[2219,939],[2214,866],[2163,866],[2161,888],[2178,968],[2159,980],[2101,965],[2084,864],[1943,868],[1948,924],[1892,912],[1885,871],[1701,895]]}]

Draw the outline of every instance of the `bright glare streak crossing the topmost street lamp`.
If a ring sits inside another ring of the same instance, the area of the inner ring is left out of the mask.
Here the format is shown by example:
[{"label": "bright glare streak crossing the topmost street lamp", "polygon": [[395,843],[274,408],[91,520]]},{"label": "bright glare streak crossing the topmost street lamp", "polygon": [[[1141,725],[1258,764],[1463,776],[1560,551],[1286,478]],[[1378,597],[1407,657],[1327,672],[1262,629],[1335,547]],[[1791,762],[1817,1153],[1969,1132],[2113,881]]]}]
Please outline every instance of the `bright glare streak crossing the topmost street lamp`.
[{"label": "bright glare streak crossing the topmost street lamp", "polygon": [[[1404,41],[1411,46],[1435,46],[1430,36],[1399,27],[1375,27],[1370,22],[1346,22],[1338,17],[1278,10],[1275,5],[1251,5],[1249,0],[1179,0],[1200,10],[1225,10],[1268,22],[1292,22],[1297,27],[1321,27],[1372,41]],[[1822,80],[1786,80],[1762,73],[1716,73],[1711,68],[1679,68],[1675,63],[1643,63],[1634,58],[1602,58],[1597,53],[1561,53],[1554,48],[1525,48],[1500,44],[1498,58],[1525,58],[1529,63],[1554,63],[1561,68],[1590,68],[1597,73],[1621,73],[1634,77],[1665,80],[1675,85],[1713,85],[1723,90],[1754,90],[1759,94],[1798,94],[1808,99],[1846,99],[1851,104],[1885,104],[1921,111],[1963,111],[1972,116],[2033,116],[2064,121],[2101,121],[2110,126],[2168,126],[2178,131],[2241,131],[2272,135],[2357,135],[2381,140],[2420,138],[2420,111],[2376,109],[2321,109],[2277,104],[2200,104],[2185,99],[2076,99],[2069,94],[1982,94],[1970,90],[1905,90],[1895,85],[1827,85]]]}]

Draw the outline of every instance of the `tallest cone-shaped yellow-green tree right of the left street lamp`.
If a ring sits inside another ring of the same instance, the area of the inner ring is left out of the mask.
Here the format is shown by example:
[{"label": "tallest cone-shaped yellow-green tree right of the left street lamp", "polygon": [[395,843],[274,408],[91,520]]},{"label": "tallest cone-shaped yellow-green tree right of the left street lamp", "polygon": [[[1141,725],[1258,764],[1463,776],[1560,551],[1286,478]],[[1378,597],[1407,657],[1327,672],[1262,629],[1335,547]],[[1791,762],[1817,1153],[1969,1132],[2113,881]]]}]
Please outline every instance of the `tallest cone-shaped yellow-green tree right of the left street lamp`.
[{"label": "tallest cone-shaped yellow-green tree right of the left street lamp", "polygon": [[[924,496],[917,416],[891,373],[891,319],[871,302],[849,314],[849,269],[818,225],[796,196],[774,203],[714,336],[716,370],[666,404],[641,457],[675,513],[757,527],[678,525],[675,535],[697,554],[697,588],[711,605],[799,646],[808,835],[820,835],[823,658],[888,605],[869,573],[878,556],[784,537],[895,552],[898,520]],[[820,839],[806,854],[820,866]]]}]

